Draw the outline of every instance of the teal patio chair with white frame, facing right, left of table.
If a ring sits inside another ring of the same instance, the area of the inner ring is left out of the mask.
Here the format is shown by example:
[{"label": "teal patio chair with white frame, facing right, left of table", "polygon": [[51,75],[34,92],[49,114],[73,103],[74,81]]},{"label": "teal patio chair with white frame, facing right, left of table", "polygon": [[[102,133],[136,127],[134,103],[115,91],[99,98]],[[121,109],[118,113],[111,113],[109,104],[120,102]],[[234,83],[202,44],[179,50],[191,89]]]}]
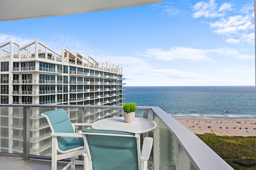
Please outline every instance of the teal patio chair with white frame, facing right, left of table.
[{"label": "teal patio chair with white frame, facing right, left of table", "polygon": [[91,123],[71,123],[64,109],[46,111],[41,115],[46,117],[52,131],[52,170],[57,169],[57,160],[66,158],[71,161],[62,170],[69,166],[74,170],[75,164],[83,165],[84,161],[75,160],[75,156],[81,155],[84,150],[82,135],[75,133],[75,125],[90,126]]}]

